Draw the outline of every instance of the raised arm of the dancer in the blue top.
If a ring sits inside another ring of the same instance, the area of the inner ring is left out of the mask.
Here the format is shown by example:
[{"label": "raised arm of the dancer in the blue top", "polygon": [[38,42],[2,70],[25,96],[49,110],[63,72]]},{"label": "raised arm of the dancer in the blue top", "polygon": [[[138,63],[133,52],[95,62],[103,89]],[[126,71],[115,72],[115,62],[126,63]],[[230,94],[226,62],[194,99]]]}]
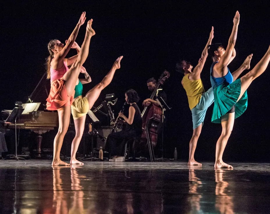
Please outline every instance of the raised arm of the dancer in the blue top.
[{"label": "raised arm of the dancer in the blue top", "polygon": [[[237,38],[239,20],[240,20],[240,14],[237,10],[235,13],[235,17],[233,18],[232,33],[230,35],[226,51],[224,50],[224,48],[221,49],[221,51],[225,53],[220,57],[219,62],[215,65],[214,71],[221,73],[222,70],[220,69],[222,69],[223,67],[226,67],[236,55],[236,51],[234,47],[235,47],[236,38]],[[219,54],[218,51],[216,52],[217,52],[216,54]]]}]

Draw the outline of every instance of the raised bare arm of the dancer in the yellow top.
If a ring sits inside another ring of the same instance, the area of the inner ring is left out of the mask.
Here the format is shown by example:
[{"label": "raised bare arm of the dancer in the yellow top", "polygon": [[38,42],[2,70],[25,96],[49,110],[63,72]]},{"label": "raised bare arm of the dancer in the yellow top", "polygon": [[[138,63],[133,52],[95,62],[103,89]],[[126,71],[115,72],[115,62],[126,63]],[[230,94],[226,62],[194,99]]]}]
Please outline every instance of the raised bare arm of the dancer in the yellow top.
[{"label": "raised bare arm of the dancer in the yellow top", "polygon": [[212,29],[210,31],[209,39],[205,45],[205,48],[202,51],[201,58],[199,59],[198,65],[193,69],[193,72],[189,74],[190,80],[197,80],[200,79],[200,73],[202,72],[203,66],[205,64],[206,58],[208,56],[207,53],[207,47],[212,43],[212,40],[214,38],[214,27],[212,26]]}]

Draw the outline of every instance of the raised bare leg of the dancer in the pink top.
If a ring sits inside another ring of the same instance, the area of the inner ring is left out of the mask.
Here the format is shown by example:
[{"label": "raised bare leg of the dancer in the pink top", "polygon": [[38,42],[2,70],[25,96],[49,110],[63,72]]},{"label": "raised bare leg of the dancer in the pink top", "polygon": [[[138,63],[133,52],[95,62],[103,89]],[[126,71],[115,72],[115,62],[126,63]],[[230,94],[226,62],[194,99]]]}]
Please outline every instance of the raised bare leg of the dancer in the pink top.
[{"label": "raised bare leg of the dancer in the pink top", "polygon": [[95,35],[95,31],[92,28],[92,22],[93,19],[87,22],[86,33],[84,37],[84,42],[81,45],[81,51],[79,52],[76,61],[72,64],[70,69],[63,76],[63,79],[65,80],[65,88],[68,95],[72,95],[74,92],[74,88],[80,74],[81,66],[84,64],[88,56],[91,37]]}]

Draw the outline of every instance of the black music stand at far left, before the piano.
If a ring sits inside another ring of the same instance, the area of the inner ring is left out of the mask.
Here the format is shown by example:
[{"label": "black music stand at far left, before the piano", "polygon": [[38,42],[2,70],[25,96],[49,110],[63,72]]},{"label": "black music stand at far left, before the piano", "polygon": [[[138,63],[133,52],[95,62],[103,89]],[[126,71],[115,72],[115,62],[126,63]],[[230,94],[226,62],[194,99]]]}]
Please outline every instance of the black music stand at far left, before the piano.
[{"label": "black music stand at far left, before the piano", "polygon": [[13,108],[12,112],[10,113],[10,115],[8,116],[8,118],[6,119],[5,122],[10,122],[10,123],[15,123],[15,155],[10,155],[9,159],[16,159],[16,161],[18,161],[19,159],[21,160],[25,160],[22,157],[18,157],[17,156],[17,126],[16,126],[16,121],[17,121],[17,117],[19,117],[23,112],[23,108],[22,108],[22,102],[16,101],[15,102],[15,108]]}]

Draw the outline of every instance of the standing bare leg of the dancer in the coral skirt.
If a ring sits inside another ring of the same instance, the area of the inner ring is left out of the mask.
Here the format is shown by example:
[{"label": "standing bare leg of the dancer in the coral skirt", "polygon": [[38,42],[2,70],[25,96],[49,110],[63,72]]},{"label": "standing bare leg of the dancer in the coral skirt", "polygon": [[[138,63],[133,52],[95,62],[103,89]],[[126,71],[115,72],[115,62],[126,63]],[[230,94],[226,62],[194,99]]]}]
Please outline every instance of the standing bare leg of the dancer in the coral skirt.
[{"label": "standing bare leg of the dancer in the coral skirt", "polygon": [[64,136],[67,133],[67,129],[69,126],[70,106],[64,106],[63,108],[59,108],[57,111],[59,118],[59,128],[54,138],[54,158],[51,165],[69,165],[69,163],[65,163],[64,161],[60,160],[60,151],[63,144]]}]

